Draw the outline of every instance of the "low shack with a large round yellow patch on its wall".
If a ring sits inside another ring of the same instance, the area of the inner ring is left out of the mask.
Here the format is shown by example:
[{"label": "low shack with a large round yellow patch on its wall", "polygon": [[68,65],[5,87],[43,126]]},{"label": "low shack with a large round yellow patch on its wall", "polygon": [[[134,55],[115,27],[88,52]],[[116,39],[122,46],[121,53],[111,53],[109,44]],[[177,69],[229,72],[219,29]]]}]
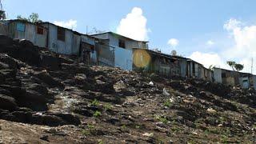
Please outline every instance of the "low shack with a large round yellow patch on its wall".
[{"label": "low shack with a large round yellow patch on its wall", "polygon": [[133,70],[146,70],[164,76],[178,76],[178,60],[154,50],[133,49]]}]

